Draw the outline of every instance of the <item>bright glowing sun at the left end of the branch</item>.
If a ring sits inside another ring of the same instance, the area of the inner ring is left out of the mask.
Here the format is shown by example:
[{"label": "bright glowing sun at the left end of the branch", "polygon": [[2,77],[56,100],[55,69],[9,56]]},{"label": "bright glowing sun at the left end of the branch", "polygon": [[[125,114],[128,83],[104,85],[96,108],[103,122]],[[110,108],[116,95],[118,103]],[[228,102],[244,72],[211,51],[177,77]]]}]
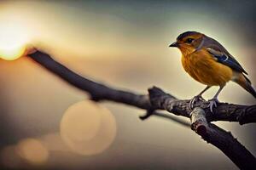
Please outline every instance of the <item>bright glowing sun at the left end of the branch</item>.
[{"label": "bright glowing sun at the left end of the branch", "polygon": [[25,53],[29,42],[26,27],[18,23],[0,26],[0,58],[15,60]]}]

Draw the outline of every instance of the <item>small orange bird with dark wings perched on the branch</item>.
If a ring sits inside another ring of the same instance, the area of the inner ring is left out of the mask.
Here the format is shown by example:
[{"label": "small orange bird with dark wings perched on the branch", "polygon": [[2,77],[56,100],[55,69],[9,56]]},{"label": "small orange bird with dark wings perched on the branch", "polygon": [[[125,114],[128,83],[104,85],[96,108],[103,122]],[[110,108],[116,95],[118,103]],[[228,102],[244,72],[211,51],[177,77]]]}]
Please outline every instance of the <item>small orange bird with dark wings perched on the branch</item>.
[{"label": "small orange bird with dark wings perched on the branch", "polygon": [[218,94],[227,82],[239,84],[256,98],[251,81],[238,61],[216,40],[197,31],[186,31],[177,37],[169,47],[179,48],[182,53],[182,64],[186,72],[196,81],[207,85],[200,94],[190,100],[193,109],[195,102],[212,86],[219,86],[218,92],[209,100],[209,108],[217,107]]}]

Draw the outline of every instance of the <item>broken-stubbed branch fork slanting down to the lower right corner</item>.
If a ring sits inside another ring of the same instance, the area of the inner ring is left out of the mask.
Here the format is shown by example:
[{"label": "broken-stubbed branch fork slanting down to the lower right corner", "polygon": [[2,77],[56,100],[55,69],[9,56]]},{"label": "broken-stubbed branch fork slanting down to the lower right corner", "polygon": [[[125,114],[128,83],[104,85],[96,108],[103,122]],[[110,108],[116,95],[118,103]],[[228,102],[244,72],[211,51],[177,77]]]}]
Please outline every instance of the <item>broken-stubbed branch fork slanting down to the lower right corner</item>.
[{"label": "broken-stubbed branch fork slanting down to the lower right corner", "polygon": [[206,112],[197,107],[191,112],[191,128],[207,143],[222,150],[241,169],[255,169],[255,157],[231,133],[207,122]]}]

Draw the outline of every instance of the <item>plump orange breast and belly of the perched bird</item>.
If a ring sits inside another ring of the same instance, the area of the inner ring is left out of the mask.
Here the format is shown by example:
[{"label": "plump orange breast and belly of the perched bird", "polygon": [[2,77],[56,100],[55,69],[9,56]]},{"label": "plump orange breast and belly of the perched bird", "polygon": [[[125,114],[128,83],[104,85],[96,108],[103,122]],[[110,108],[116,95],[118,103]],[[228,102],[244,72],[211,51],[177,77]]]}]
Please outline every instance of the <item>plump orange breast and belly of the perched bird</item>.
[{"label": "plump orange breast and belly of the perched bird", "polygon": [[183,55],[183,68],[196,81],[210,86],[220,86],[229,82],[233,71],[229,66],[218,63],[207,50]]}]

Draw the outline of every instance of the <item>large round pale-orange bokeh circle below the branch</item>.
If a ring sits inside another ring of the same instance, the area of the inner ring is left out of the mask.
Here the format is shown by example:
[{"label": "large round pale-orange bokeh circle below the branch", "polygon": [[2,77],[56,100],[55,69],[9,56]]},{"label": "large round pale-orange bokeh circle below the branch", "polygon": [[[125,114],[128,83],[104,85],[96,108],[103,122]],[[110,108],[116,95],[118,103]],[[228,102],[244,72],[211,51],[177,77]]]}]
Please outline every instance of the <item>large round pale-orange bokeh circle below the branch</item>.
[{"label": "large round pale-orange bokeh circle below the branch", "polygon": [[61,120],[61,138],[80,155],[102,153],[113,143],[115,135],[112,113],[90,100],[70,106]]}]

